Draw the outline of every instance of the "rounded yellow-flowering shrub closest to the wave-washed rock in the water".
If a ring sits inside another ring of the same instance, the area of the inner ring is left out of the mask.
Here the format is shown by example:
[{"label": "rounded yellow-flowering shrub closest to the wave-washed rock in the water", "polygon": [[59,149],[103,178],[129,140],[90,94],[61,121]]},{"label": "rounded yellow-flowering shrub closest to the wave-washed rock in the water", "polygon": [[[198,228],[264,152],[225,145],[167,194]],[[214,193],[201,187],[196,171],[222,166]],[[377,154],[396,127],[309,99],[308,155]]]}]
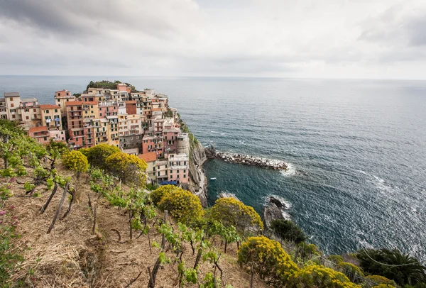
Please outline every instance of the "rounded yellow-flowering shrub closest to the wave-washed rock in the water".
[{"label": "rounded yellow-flowering shrub closest to the wave-washed rock in the water", "polygon": [[243,202],[231,198],[219,198],[210,209],[214,220],[225,226],[234,226],[237,231],[244,233],[247,228],[258,231],[263,229],[261,216],[254,211],[253,207],[244,205]]}]

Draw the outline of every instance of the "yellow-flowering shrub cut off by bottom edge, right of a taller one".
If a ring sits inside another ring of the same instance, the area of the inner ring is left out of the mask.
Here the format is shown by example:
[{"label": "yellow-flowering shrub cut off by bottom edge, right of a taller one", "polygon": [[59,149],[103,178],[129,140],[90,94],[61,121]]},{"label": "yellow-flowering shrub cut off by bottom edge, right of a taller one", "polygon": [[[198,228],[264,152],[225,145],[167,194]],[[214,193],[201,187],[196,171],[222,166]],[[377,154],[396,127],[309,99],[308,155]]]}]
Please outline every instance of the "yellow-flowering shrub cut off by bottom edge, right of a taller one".
[{"label": "yellow-flowering shrub cut off by bottom edge, right of a taller one", "polygon": [[341,272],[320,265],[307,265],[295,272],[286,287],[361,288]]}]

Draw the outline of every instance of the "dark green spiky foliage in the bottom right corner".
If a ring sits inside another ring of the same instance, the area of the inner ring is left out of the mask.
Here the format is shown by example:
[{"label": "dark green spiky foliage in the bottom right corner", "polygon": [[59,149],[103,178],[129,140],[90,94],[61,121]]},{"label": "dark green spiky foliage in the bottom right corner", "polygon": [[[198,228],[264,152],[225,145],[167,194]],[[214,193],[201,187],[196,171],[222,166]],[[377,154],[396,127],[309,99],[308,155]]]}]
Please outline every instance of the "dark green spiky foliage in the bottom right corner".
[{"label": "dark green spiky foliage in the bottom right corner", "polygon": [[361,267],[365,272],[382,275],[401,286],[425,282],[426,267],[421,265],[415,257],[400,253],[397,249],[360,250],[356,257],[360,260]]}]

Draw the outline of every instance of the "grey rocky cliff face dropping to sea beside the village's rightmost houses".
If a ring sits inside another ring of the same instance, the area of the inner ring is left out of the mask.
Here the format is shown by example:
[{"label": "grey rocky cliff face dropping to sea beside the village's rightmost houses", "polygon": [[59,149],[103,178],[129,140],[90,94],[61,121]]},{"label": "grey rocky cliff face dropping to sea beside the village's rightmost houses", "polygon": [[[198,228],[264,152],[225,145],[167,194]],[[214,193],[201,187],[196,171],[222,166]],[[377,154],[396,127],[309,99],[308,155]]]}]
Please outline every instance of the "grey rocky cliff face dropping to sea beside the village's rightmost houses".
[{"label": "grey rocky cliff face dropping to sea beside the village's rightmost houses", "polygon": [[190,145],[190,192],[200,198],[202,206],[207,206],[207,177],[204,175],[202,165],[207,160],[204,147],[201,143]]}]

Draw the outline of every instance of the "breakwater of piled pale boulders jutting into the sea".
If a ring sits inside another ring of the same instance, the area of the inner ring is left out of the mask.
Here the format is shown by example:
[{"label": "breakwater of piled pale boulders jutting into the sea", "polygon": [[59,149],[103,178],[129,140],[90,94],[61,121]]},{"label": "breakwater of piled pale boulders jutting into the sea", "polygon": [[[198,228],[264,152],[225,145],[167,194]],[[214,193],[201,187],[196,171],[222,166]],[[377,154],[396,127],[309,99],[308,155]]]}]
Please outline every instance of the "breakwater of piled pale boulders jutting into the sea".
[{"label": "breakwater of piled pale boulders jutting into the sea", "polygon": [[238,153],[217,152],[213,145],[209,148],[205,148],[205,150],[205,153],[209,158],[218,158],[226,162],[239,163],[243,165],[257,166],[274,170],[288,170],[287,163],[281,160],[272,160]]}]

